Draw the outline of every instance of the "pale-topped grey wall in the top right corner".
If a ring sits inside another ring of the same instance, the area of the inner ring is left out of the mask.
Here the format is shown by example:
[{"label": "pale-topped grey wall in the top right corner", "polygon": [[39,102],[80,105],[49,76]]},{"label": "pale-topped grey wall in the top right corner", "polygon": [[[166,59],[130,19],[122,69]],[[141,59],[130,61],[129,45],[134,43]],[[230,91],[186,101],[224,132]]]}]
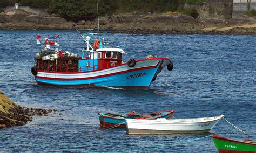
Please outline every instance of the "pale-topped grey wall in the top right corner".
[{"label": "pale-topped grey wall in the top right corner", "polygon": [[252,10],[256,10],[256,0],[234,0],[232,18]]}]

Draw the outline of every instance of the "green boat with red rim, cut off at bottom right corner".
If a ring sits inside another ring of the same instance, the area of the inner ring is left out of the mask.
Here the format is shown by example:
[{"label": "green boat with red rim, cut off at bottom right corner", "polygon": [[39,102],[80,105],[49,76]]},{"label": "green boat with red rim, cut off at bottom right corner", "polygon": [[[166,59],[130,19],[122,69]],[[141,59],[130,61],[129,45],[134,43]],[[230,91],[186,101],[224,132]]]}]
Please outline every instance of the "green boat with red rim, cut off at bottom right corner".
[{"label": "green boat with red rim, cut off at bottom right corner", "polygon": [[237,141],[214,134],[212,139],[219,152],[256,152],[256,141]]}]

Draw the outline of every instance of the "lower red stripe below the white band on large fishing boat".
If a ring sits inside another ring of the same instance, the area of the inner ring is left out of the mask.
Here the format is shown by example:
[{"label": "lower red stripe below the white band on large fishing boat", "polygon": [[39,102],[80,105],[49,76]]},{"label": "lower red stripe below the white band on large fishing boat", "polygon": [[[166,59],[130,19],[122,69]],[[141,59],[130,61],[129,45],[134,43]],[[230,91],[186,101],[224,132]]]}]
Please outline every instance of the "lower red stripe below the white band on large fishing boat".
[{"label": "lower red stripe below the white band on large fishing boat", "polygon": [[[157,64],[158,65],[158,64]],[[39,78],[39,79],[48,79],[48,80],[87,80],[87,79],[95,79],[95,78],[102,78],[102,77],[109,77],[111,75],[116,75],[116,74],[122,74],[122,73],[127,73],[127,72],[132,72],[132,71],[139,71],[142,69],[150,69],[150,68],[156,68],[157,66],[149,66],[149,67],[142,67],[142,68],[134,68],[134,69],[128,69],[125,71],[121,71],[121,72],[116,72],[116,73],[111,73],[111,74],[105,74],[105,75],[98,75],[95,77],[87,77],[87,78],[74,78],[74,79],[64,79],[64,78],[49,78],[49,77],[39,77],[39,76],[35,76],[35,78]]]}]

